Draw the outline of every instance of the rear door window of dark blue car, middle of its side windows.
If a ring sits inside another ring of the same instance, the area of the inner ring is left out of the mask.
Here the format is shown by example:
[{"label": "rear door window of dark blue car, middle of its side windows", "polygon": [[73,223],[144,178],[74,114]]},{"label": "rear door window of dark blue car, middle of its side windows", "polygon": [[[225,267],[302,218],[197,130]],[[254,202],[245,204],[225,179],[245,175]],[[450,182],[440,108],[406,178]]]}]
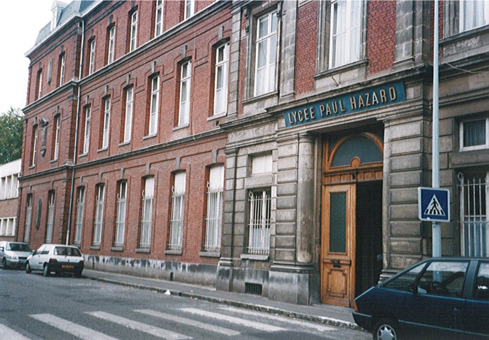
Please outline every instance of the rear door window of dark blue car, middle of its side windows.
[{"label": "rear door window of dark blue car, middle of its side windows", "polygon": [[468,262],[433,261],[417,285],[417,293],[462,297]]}]

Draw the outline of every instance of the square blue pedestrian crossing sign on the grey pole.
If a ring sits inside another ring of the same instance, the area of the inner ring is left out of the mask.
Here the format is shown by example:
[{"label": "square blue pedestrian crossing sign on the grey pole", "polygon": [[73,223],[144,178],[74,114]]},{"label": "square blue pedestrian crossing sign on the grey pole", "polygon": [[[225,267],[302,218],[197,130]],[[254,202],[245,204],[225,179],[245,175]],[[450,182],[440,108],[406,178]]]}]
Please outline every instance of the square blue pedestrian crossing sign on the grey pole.
[{"label": "square blue pedestrian crossing sign on the grey pole", "polygon": [[417,188],[418,217],[422,221],[450,222],[448,189]]}]

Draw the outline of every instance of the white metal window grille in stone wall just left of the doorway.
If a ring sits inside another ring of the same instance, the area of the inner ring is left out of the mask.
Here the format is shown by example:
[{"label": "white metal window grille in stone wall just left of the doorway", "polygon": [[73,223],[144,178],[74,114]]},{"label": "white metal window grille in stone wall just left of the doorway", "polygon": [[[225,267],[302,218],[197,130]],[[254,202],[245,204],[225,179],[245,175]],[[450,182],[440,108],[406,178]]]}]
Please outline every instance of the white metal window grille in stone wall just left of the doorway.
[{"label": "white metal window grille in stone wall just left of the doorway", "polygon": [[249,193],[249,254],[269,254],[270,203],[270,191],[251,191]]}]

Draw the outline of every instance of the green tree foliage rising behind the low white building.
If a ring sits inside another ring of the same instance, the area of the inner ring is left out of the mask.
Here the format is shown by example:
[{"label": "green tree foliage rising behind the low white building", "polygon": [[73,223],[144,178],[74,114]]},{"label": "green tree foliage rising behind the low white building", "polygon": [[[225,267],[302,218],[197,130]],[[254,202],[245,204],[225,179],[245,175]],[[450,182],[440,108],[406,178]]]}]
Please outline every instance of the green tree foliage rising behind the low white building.
[{"label": "green tree foliage rising behind the low white building", "polygon": [[0,164],[22,156],[24,115],[18,108],[0,114]]}]

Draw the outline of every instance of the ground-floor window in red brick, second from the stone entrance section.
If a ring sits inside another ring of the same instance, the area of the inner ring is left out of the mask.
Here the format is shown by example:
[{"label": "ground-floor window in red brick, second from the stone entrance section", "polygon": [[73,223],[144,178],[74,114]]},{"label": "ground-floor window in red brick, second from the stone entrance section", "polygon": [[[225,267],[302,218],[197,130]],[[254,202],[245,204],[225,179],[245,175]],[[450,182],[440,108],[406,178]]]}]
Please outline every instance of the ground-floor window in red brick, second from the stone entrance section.
[{"label": "ground-floor window in red brick, second from the stone entrance section", "polygon": [[175,174],[168,249],[181,250],[184,241],[185,172]]}]

